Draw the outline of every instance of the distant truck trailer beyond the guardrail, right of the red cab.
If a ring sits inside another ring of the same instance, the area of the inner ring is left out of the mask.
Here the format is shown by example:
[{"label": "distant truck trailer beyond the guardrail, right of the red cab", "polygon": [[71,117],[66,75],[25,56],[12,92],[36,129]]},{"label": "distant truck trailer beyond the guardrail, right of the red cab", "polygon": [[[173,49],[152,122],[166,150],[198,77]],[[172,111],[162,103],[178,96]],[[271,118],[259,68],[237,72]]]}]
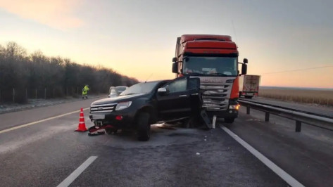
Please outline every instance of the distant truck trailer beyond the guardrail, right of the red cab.
[{"label": "distant truck trailer beyond the guardrail, right of the red cab", "polygon": [[260,75],[241,75],[239,77],[239,96],[253,98],[258,96]]}]

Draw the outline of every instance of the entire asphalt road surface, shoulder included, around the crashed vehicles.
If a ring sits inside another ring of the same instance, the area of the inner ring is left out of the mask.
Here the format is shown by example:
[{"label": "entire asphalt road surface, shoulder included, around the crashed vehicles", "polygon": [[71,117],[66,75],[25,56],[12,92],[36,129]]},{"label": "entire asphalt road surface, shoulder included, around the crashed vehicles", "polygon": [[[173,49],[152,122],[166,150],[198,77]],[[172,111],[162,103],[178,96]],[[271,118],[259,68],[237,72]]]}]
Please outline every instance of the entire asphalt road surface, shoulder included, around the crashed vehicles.
[{"label": "entire asphalt road surface, shoulder included, around the crashed vehicles", "polygon": [[[70,186],[288,186],[220,128],[155,125],[148,142],[137,141],[132,131],[75,132],[78,110],[92,101],[0,115],[1,186],[58,186],[70,174],[78,174]],[[271,117],[267,123],[260,112],[248,116],[242,110],[230,130],[303,185],[332,186],[332,135],[311,127],[296,134],[292,122]],[[92,126],[88,110],[84,116]],[[54,118],[34,123],[49,117]],[[22,124],[30,125],[13,129]]]}]

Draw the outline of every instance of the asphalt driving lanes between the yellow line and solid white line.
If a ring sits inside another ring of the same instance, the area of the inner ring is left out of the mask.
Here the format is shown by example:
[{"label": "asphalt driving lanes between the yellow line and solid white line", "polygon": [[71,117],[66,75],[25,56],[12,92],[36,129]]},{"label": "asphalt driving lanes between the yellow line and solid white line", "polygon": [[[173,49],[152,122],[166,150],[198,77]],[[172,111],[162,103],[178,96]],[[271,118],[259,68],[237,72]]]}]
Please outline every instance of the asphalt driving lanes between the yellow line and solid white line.
[{"label": "asphalt driving lanes between the yellow line and solid white line", "polygon": [[[89,102],[58,105],[71,107],[87,108]],[[30,116],[39,120],[36,112]],[[87,110],[84,115],[91,126]],[[0,134],[1,186],[57,186],[91,156],[96,160],[71,186],[287,186],[222,129],[155,126],[151,140],[139,142],[131,131],[75,132],[78,117],[79,112]]]}]

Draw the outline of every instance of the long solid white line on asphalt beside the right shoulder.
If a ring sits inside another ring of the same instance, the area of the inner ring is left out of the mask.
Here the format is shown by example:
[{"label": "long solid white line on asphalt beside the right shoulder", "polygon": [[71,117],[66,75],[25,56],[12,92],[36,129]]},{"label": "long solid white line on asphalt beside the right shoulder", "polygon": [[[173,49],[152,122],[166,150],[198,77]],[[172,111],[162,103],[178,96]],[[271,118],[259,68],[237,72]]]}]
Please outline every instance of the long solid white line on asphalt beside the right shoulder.
[{"label": "long solid white line on asphalt beside the right shoulder", "polygon": [[243,146],[244,148],[246,148],[247,150],[249,150],[249,152],[252,153],[252,155],[254,155],[255,157],[258,158],[258,160],[260,160],[267,167],[269,167],[270,169],[272,169],[272,171],[275,172],[275,174],[277,174],[284,181],[286,181],[287,183],[289,183],[290,186],[303,186],[303,184],[301,184],[299,181],[297,181],[296,179],[294,179],[294,177],[292,177],[289,174],[287,174],[287,172],[284,172],[283,169],[281,169],[280,167],[278,167],[277,165],[275,165],[272,161],[270,161],[267,157],[265,157],[263,154],[261,154],[258,150],[256,150],[252,146],[250,146],[249,143],[246,143],[243,139],[239,138],[239,136],[237,136],[232,131],[230,131],[229,129],[227,129],[227,127],[221,127],[221,129],[223,129],[225,132],[227,132],[227,134],[229,134],[230,136],[232,136],[232,138],[234,138],[236,141],[238,141],[238,143],[240,143],[241,146]]}]

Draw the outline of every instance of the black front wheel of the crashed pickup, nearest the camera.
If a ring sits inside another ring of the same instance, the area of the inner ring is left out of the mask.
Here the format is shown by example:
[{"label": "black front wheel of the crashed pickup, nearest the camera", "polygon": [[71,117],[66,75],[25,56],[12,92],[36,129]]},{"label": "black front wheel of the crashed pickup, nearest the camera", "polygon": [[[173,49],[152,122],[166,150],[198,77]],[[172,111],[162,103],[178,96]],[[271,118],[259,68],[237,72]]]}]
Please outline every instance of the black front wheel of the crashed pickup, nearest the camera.
[{"label": "black front wheel of the crashed pickup, nearest the camera", "polygon": [[150,138],[151,126],[149,124],[149,113],[141,112],[137,120],[137,139],[148,141]]}]

